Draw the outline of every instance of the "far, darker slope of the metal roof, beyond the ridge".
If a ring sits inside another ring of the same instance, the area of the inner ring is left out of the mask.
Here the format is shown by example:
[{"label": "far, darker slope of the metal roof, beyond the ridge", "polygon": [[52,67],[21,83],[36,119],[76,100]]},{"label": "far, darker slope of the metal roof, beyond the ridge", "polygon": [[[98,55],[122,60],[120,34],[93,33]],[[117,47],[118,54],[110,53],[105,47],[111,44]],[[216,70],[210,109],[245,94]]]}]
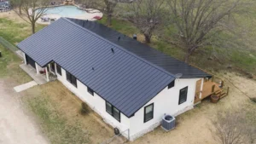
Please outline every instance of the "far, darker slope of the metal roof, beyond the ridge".
[{"label": "far, darker slope of the metal roof, beyond the ridge", "polygon": [[172,58],[169,55],[163,54],[159,50],[149,47],[147,44],[140,43],[137,40],[116,32],[107,26],[99,24],[98,22],[77,19],[69,20],[72,20],[79,26],[83,26],[91,32],[95,32],[97,35],[108,39],[110,42],[119,45],[134,55],[137,55],[137,57],[143,58],[143,60],[154,64],[159,69],[169,72],[172,76],[175,76],[177,73],[182,73],[182,78],[211,77],[206,72],[203,72],[193,66],[189,66],[183,61]]}]

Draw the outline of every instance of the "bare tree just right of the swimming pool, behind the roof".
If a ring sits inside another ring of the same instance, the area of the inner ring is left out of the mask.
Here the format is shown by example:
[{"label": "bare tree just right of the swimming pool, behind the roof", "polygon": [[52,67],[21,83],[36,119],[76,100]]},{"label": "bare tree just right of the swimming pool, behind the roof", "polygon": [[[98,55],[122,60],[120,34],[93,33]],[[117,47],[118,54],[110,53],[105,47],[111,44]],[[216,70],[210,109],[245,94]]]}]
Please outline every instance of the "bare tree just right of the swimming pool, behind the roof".
[{"label": "bare tree just right of the swimming pool, behind the roof", "polygon": [[91,9],[98,9],[107,15],[107,25],[112,25],[113,12],[116,9],[119,0],[79,0],[79,3],[85,5],[87,12],[93,12]]}]

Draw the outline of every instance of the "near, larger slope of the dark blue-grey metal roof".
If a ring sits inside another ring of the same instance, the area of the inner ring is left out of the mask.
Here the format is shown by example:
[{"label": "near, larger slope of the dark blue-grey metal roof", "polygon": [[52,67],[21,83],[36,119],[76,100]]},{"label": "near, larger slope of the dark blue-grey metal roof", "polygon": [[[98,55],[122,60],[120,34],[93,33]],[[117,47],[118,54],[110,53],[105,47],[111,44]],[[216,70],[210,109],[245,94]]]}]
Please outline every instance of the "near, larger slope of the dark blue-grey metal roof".
[{"label": "near, larger slope of the dark blue-grey metal roof", "polygon": [[18,47],[40,66],[55,61],[129,118],[175,79],[66,18],[44,27]]}]

